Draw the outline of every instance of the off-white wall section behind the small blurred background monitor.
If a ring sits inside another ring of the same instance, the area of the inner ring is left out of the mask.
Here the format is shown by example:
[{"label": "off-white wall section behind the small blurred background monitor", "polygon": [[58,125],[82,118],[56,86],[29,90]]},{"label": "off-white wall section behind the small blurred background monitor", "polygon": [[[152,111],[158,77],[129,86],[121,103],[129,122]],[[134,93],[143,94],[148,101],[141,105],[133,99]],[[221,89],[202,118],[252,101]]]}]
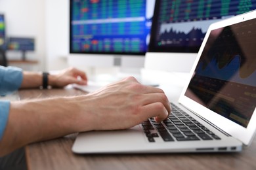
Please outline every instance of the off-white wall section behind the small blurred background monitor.
[{"label": "off-white wall section behind the small blurred background monitor", "polygon": [[[45,1],[0,0],[0,12],[5,14],[7,37],[35,37],[35,52],[28,54],[28,58],[38,59],[39,65],[37,69],[44,70],[46,54]],[[19,56],[9,54],[7,57]]]}]

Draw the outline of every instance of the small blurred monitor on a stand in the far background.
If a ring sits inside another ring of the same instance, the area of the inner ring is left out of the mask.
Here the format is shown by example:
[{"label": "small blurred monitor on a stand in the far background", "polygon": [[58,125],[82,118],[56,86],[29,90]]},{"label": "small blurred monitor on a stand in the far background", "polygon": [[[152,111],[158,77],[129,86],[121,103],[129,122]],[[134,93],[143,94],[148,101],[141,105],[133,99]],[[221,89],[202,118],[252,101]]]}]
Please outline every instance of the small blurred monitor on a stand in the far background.
[{"label": "small blurred monitor on a stand in the far background", "polygon": [[27,37],[10,37],[8,50],[22,52],[22,59],[26,60],[26,52],[35,50],[35,39]]}]

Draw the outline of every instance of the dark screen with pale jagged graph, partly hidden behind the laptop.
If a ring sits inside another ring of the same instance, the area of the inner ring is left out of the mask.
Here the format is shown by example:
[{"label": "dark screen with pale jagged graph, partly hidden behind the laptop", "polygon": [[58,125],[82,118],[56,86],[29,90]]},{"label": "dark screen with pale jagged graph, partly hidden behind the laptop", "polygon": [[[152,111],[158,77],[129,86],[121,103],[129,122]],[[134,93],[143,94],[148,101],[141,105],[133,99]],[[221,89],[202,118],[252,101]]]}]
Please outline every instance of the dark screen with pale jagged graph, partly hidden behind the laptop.
[{"label": "dark screen with pale jagged graph, partly hidden behind the laptop", "polygon": [[256,1],[156,1],[150,52],[197,53],[210,24],[256,9]]}]

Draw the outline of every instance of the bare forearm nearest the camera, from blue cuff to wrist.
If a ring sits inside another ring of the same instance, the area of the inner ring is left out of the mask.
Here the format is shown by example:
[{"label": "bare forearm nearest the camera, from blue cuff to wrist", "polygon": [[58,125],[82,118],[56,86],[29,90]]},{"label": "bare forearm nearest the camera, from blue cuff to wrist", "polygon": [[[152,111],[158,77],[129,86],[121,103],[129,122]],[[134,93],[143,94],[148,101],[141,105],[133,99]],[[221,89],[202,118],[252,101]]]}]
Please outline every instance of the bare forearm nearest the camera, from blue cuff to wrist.
[{"label": "bare forearm nearest the camera, from blue cuff to wrist", "polygon": [[70,97],[11,103],[7,127],[0,141],[0,155],[28,143],[77,131],[79,111],[75,110],[76,103],[68,98]]}]

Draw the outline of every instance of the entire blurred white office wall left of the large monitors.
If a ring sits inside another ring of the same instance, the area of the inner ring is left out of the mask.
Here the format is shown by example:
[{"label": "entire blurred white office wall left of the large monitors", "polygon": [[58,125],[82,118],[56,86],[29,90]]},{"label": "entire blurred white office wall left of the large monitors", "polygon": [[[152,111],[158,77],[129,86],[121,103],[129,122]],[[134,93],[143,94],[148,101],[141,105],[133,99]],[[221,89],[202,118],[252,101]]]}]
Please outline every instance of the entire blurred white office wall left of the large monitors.
[{"label": "entire blurred white office wall left of the large monitors", "polygon": [[[39,61],[34,70],[68,67],[68,4],[68,0],[0,0],[7,37],[35,38],[35,52],[27,55]],[[7,52],[8,59],[20,57],[18,52]]]}]

